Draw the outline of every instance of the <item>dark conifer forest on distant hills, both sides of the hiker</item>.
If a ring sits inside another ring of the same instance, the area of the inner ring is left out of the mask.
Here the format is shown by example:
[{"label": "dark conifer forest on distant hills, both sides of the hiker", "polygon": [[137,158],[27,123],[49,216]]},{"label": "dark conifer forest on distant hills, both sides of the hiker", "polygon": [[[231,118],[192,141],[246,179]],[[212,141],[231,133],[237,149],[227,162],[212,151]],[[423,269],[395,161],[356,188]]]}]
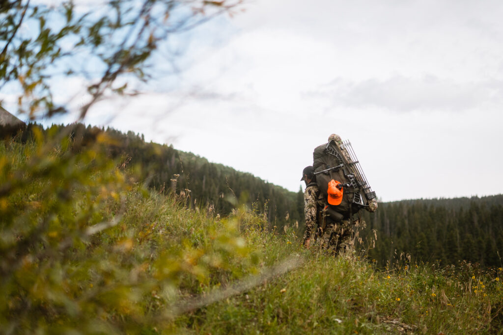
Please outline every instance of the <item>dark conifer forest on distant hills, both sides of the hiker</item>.
[{"label": "dark conifer forest on distant hills, both sides of the hiker", "polygon": [[[29,125],[25,139],[31,134]],[[53,125],[45,132],[71,129],[70,136],[85,145],[104,132],[110,158],[121,158],[125,165],[141,167],[141,182],[150,188],[169,193],[173,175],[179,174],[177,193],[187,193],[187,204],[212,206],[215,212],[229,214],[238,204],[264,212],[270,227],[298,227],[303,232],[302,192],[291,192],[250,173],[236,171],[203,157],[176,150],[173,146],[145,142],[143,135],[124,134],[75,124]],[[377,190],[377,194],[379,190]],[[234,199],[234,200],[233,200]],[[503,195],[453,199],[410,199],[381,202],[376,213],[361,211],[366,228],[360,232],[368,257],[386,266],[405,255],[417,262],[457,264],[461,260],[480,263],[483,267],[501,266],[503,254]],[[298,225],[297,225],[298,224]],[[377,240],[372,242],[374,231]],[[370,249],[368,247],[371,247]],[[498,256],[499,253],[499,256]]]}]

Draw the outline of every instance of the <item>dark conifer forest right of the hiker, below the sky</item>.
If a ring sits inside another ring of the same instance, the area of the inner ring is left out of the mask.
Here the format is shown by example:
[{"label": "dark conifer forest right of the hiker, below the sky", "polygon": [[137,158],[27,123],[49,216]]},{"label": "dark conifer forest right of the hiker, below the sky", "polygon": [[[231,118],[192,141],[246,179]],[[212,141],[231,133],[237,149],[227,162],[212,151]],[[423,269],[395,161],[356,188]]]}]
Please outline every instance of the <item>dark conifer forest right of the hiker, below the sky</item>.
[{"label": "dark conifer forest right of the hiker, below the sky", "polygon": [[[403,253],[417,262],[441,260],[449,265],[467,260],[501,267],[503,195],[381,203],[375,214],[363,217],[364,239],[370,241],[372,229],[377,231],[369,257],[381,266],[399,260]],[[366,246],[364,241],[362,247]]]}]

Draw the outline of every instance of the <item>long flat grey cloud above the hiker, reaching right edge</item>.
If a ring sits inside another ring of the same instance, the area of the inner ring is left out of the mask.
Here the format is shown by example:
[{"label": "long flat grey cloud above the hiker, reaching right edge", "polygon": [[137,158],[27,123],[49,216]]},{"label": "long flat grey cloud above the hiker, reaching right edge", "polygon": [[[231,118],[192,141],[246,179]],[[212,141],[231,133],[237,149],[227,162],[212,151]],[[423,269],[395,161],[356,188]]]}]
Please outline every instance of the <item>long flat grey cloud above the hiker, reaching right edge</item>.
[{"label": "long flat grey cloud above the hiker, reaching right edge", "polygon": [[[330,94],[331,93],[331,94]],[[314,92],[331,95],[333,105],[355,108],[369,106],[386,108],[397,113],[412,110],[465,111],[474,108],[494,109],[501,105],[503,82],[456,82],[435,76],[387,79],[371,78],[362,82],[335,80],[331,85]]]}]

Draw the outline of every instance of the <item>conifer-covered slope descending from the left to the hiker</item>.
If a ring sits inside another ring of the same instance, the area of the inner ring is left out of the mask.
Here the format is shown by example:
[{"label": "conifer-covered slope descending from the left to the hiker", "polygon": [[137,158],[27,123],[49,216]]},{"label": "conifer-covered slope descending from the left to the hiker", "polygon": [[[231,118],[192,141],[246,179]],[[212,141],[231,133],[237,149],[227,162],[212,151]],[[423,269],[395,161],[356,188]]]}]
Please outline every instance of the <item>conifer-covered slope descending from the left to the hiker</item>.
[{"label": "conifer-covered slope descending from the left to the hiker", "polygon": [[[18,135],[18,139],[26,141],[32,136],[33,127],[40,128],[30,124]],[[66,132],[66,136],[82,146],[105,134],[105,150],[109,157],[120,159],[128,168],[139,167],[140,182],[150,188],[168,193],[171,191],[171,179],[179,174],[176,192],[185,193],[191,206],[212,206],[215,212],[225,215],[236,205],[251,206],[255,203],[255,208],[266,212],[268,221],[272,226],[277,225],[278,229],[296,221],[299,225],[303,224],[301,191],[288,191],[251,173],[211,163],[206,158],[176,150],[173,146],[145,142],[143,135],[131,131],[124,134],[112,128],[86,127],[83,124],[53,125],[42,131],[53,134]]]}]

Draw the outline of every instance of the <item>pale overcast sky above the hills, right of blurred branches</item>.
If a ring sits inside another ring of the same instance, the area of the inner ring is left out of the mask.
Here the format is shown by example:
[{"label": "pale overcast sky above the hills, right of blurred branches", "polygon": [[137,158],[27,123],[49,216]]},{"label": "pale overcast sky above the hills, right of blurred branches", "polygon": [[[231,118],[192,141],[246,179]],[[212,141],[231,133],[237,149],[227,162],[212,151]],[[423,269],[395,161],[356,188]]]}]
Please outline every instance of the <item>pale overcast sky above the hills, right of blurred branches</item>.
[{"label": "pale overcast sky above the hills, right of blurred branches", "polygon": [[[134,100],[96,105],[86,122],[291,191],[303,186],[313,149],[336,133],[383,201],[503,192],[503,2],[243,8],[172,39],[184,54],[179,73]],[[171,65],[161,56],[157,64]]]}]

